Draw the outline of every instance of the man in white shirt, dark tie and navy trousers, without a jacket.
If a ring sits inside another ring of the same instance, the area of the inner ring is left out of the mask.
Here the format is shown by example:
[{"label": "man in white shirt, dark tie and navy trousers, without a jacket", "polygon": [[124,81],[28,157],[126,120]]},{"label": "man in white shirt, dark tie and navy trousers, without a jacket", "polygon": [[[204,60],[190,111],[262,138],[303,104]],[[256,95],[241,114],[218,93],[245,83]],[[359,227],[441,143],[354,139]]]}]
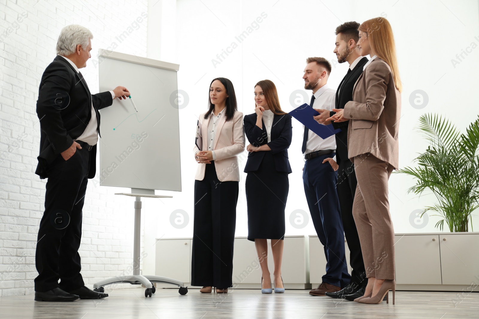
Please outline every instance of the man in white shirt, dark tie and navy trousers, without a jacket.
[{"label": "man in white shirt, dark tie and navy trousers, without a jacket", "polygon": [[[336,90],[328,87],[331,64],[322,57],[309,57],[303,79],[305,89],[313,91],[310,106],[316,110],[332,110]],[[313,296],[324,296],[336,292],[349,284],[344,253],[344,231],[340,204],[336,193],[338,166],[333,160],[336,152],[334,135],[322,139],[304,128],[302,153],[305,158],[303,184],[309,212],[319,241],[324,246],[326,274],[322,283],[309,292]]]}]

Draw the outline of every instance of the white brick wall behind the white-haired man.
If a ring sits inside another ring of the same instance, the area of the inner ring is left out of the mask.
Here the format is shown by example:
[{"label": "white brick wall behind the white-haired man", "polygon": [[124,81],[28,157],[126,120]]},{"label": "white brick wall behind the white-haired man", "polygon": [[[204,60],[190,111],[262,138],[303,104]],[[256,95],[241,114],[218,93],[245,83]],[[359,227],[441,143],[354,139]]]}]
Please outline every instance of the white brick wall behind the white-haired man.
[{"label": "white brick wall behind the white-haired man", "polygon": [[[35,245],[46,180],[34,174],[40,142],[35,104],[42,73],[56,55],[58,34],[71,23],[92,31],[92,59],[81,71],[96,93],[98,48],[116,43],[115,51],[146,56],[147,21],[132,23],[147,13],[147,2],[0,0],[0,296],[33,293],[37,275]],[[127,30],[133,31],[120,43],[115,37]],[[133,199],[115,196],[119,191],[125,189],[100,187],[98,175],[88,186],[80,255],[90,287],[105,277],[131,273]]]}]

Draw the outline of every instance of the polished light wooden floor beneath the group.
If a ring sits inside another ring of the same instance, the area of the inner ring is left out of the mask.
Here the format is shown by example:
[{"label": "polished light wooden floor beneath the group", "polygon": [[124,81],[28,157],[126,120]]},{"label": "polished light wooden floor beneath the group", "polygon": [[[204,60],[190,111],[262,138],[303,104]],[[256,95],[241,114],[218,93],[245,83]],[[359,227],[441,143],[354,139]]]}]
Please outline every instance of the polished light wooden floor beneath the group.
[{"label": "polished light wooden floor beneath the group", "polygon": [[364,305],[309,296],[308,290],[262,295],[261,290],[252,289],[228,294],[200,294],[198,289],[189,289],[181,296],[178,289],[158,289],[151,298],[145,298],[144,291],[116,289],[102,300],[67,303],[35,302],[33,295],[0,297],[0,318],[479,318],[479,293],[398,291],[396,305],[387,305],[386,301]]}]

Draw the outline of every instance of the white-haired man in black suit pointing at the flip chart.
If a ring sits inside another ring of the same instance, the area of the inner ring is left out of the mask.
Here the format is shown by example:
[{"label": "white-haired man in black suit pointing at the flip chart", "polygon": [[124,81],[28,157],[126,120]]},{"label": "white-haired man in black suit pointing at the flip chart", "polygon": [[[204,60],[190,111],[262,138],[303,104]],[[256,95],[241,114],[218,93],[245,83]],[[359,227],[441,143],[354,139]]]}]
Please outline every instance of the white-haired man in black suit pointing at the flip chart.
[{"label": "white-haired man in black suit pointing at the flip chart", "polygon": [[98,110],[112,105],[114,98],[126,99],[130,92],[116,87],[90,93],[79,68],[91,57],[92,38],[90,30],[80,25],[64,27],[57,57],[46,67],[38,91],[41,132],[35,174],[48,181],[35,253],[35,301],[108,297],[87,288],[80,275],[82,208],[88,178],[96,172],[96,144],[101,137]]}]

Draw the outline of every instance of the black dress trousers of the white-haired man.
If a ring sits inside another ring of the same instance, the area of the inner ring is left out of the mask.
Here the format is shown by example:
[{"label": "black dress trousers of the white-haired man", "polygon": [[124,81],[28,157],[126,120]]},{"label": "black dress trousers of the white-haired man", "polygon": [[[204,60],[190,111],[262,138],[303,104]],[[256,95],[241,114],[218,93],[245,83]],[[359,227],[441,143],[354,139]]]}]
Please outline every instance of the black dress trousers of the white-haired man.
[{"label": "black dress trousers of the white-haired man", "polygon": [[35,253],[38,271],[35,291],[45,292],[57,287],[69,291],[85,285],[80,275],[78,249],[89,167],[88,146],[77,149],[67,161],[58,154],[48,166],[45,212],[40,221]]}]

